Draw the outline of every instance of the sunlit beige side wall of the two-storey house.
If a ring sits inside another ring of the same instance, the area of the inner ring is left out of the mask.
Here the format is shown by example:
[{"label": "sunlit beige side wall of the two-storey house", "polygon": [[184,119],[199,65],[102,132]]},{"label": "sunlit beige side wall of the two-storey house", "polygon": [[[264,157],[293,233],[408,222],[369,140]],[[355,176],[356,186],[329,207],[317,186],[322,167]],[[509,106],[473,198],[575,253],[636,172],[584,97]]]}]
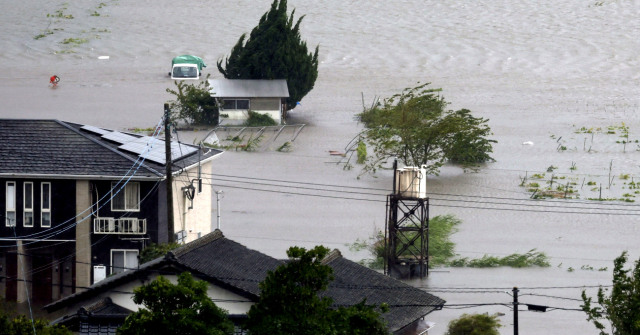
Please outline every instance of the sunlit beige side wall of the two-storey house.
[{"label": "sunlit beige side wall of the two-storey house", "polygon": [[[185,243],[191,242],[198,238],[198,236],[204,236],[211,232],[211,199],[212,188],[208,179],[208,174],[211,173],[213,163],[211,161],[201,166],[203,175],[202,192],[198,193],[198,181],[194,180],[198,178],[198,167],[195,166],[188,171],[182,172],[178,176],[174,176],[173,180],[173,222],[175,232],[185,230],[187,232],[187,238]],[[185,196],[183,187],[191,184],[193,180],[193,186],[196,188],[195,196],[193,198],[193,208],[191,201]]]}]

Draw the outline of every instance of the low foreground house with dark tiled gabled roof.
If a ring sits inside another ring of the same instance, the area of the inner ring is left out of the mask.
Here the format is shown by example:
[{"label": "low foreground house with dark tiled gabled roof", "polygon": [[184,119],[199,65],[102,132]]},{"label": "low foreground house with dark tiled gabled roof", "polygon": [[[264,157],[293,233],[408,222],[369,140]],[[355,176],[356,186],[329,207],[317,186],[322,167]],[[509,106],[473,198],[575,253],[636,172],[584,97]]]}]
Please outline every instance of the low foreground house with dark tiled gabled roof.
[{"label": "low foreground house with dark tiled gabled roof", "polygon": [[[81,334],[106,334],[121,325],[128,313],[141,308],[132,300],[135,287],[159,275],[176,282],[180,273],[189,271],[196,279],[209,282],[209,297],[239,325],[259,299],[259,283],[268,271],[284,262],[248,249],[216,230],[136,270],[119,273],[49,304],[45,309],[54,313],[53,316],[60,316],[55,323]],[[387,303],[389,311],[382,317],[396,335],[426,334],[424,317],[445,303],[426,291],[347,260],[337,250],[327,255],[323,263],[333,269],[335,279],[321,294],[331,297],[336,307],[355,305],[365,298],[370,304]],[[236,333],[244,334],[242,329]]]}]

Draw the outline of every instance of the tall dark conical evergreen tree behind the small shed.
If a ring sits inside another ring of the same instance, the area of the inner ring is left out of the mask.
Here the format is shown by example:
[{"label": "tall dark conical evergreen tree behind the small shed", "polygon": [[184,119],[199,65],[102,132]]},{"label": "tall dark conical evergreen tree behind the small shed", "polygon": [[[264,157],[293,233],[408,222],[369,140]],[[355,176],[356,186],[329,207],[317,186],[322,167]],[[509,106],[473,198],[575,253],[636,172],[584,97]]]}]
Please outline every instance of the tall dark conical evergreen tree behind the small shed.
[{"label": "tall dark conical evergreen tree behind the small shed", "polygon": [[294,24],[294,13],[287,16],[286,0],[274,0],[249,38],[240,36],[224,67],[218,61],[218,70],[227,79],[286,79],[288,109],[296,107],[318,78],[318,47],[314,53],[308,51],[300,38],[304,16]]}]

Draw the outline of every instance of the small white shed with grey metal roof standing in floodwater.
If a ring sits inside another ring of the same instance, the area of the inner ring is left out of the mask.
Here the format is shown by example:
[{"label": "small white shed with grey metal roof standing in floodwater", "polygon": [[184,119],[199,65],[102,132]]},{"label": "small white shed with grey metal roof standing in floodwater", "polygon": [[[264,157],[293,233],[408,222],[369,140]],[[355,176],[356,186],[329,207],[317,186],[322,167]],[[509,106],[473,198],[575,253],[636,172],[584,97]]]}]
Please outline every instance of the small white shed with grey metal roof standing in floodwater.
[{"label": "small white shed with grey metal roof standing in floodwater", "polygon": [[285,119],[289,97],[285,79],[210,79],[209,87],[218,102],[221,124],[242,124],[249,111],[269,115],[278,124]]}]

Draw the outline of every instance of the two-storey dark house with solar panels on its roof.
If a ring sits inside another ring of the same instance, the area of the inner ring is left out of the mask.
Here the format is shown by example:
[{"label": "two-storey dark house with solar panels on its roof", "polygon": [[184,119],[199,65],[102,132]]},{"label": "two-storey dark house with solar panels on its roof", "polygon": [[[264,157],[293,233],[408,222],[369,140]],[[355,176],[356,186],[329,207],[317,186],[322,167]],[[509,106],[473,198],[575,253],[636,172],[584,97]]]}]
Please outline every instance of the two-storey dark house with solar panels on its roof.
[{"label": "two-storey dark house with solar panels on its roof", "polygon": [[[149,243],[211,231],[221,151],[58,120],[0,119],[0,298],[51,302],[138,267]],[[29,296],[27,296],[29,294]]]}]

